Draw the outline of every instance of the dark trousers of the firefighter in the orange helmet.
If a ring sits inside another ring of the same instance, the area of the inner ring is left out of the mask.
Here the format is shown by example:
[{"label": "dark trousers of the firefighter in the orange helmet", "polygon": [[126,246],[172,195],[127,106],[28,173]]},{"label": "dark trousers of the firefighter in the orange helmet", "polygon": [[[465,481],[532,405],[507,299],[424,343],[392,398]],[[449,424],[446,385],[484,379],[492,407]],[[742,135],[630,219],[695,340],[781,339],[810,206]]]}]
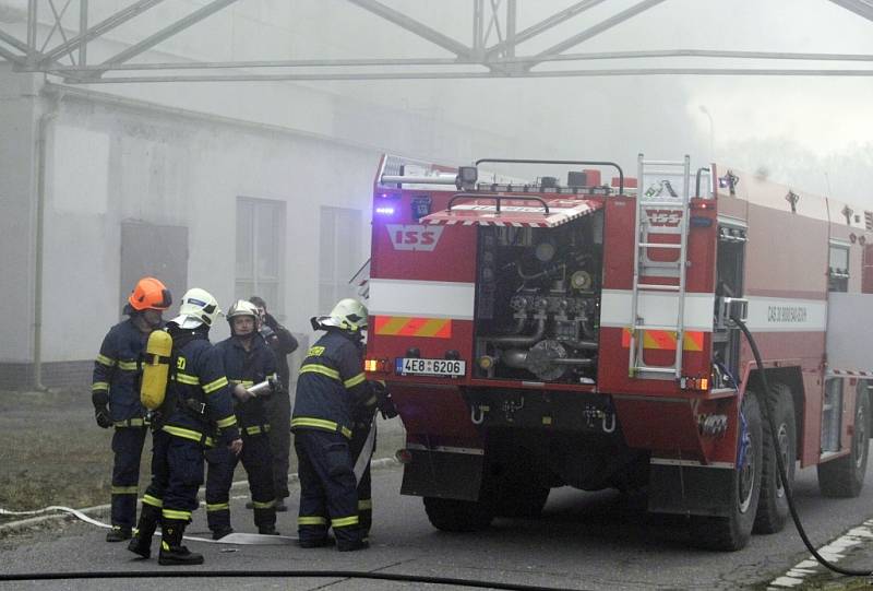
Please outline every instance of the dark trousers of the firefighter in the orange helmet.
[{"label": "dark trousers of the firefighter in the orange helmet", "polygon": [[147,430],[118,426],[112,435],[112,525],[130,529],[136,523],[140,459]]}]

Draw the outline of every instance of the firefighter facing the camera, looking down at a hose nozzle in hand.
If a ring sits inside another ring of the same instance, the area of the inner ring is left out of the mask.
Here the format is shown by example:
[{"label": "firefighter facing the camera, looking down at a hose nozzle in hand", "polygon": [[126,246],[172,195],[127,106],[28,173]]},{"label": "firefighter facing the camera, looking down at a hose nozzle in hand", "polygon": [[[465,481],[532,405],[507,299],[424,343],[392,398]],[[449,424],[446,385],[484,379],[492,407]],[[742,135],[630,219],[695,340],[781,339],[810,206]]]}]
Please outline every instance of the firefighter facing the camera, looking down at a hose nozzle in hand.
[{"label": "firefighter facing the camera, looking down at a hose nozzle in hand", "polygon": [[[258,533],[277,535],[276,497],[273,492],[273,461],[263,394],[254,395],[248,388],[264,380],[274,383],[271,395],[282,388],[276,376],[276,359],[258,332],[258,309],[244,299],[227,312],[230,338],[216,348],[222,353],[225,373],[231,385],[235,411],[242,433],[242,453],[239,457],[218,447],[206,452],[206,521],[214,540],[234,530],[230,527],[230,485],[239,461],[249,476],[249,489],[254,508]],[[284,429],[287,430],[287,427]]]}]

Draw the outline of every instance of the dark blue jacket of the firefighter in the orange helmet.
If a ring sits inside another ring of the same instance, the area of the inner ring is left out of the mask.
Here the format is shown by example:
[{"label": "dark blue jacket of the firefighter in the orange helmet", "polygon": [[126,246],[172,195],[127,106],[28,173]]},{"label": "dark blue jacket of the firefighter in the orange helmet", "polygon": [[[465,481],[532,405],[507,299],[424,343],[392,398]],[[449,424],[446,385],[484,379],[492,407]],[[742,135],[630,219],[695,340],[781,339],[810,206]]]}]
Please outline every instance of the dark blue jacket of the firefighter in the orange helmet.
[{"label": "dark blue jacket of the firefighter in the orange helmet", "polygon": [[106,334],[94,362],[91,391],[95,405],[109,404],[116,426],[143,425],[145,409],[140,403],[142,355],[148,335],[129,318]]}]

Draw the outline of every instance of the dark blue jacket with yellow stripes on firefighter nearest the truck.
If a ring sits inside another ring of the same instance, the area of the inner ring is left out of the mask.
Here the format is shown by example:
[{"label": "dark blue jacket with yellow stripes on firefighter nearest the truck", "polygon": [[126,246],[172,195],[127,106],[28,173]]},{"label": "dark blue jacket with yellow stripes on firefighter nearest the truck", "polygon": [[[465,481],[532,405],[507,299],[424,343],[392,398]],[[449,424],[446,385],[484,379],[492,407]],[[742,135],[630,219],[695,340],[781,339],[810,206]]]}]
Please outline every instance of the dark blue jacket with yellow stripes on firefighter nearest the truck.
[{"label": "dark blue jacket with yellow stripes on firefighter nearest the truck", "polygon": [[360,345],[336,329],[309,348],[297,378],[291,430],[321,429],[351,438],[356,409],[376,403],[361,354]]}]

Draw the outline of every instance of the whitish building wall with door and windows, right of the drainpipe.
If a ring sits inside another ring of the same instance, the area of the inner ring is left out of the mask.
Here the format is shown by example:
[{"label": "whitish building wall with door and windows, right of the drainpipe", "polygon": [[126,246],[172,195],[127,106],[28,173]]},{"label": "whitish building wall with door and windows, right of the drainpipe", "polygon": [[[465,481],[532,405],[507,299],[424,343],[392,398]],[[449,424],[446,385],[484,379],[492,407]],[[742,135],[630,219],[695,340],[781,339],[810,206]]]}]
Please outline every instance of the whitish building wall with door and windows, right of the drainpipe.
[{"label": "whitish building wall with door and windows, right of the drainpipe", "polygon": [[[364,211],[369,243],[375,150],[74,96],[61,99],[49,142],[45,293],[75,294],[83,305],[45,306],[52,335],[46,362],[92,357],[118,320],[123,221],[187,226],[189,285],[211,291],[226,309],[234,298],[237,198],[285,201],[284,302],[270,304],[297,331],[320,311],[320,208]],[[214,338],[226,333],[220,324]]]}]

